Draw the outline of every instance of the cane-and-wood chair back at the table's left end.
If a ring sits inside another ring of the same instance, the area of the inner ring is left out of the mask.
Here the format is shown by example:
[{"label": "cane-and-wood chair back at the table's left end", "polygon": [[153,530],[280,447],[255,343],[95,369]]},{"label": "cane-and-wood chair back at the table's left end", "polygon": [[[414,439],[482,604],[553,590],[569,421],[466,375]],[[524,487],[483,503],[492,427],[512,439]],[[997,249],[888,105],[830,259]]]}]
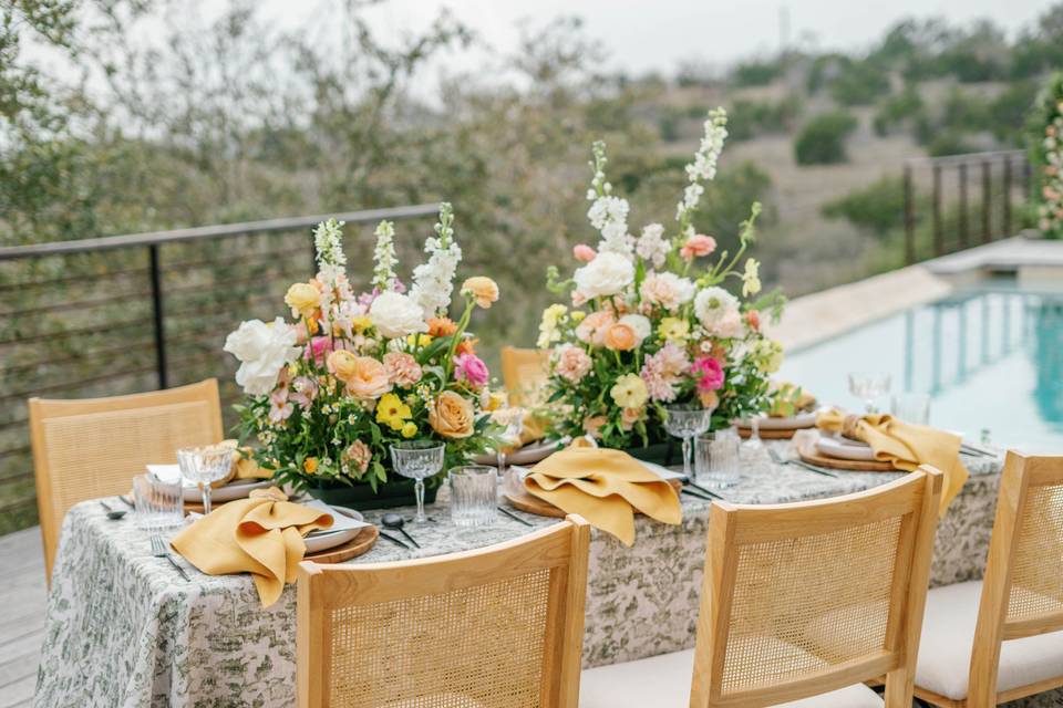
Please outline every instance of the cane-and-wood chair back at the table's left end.
[{"label": "cane-and-wood chair back at the table's left end", "polygon": [[148,462],[176,462],[179,447],[221,440],[213,378],[112,398],[30,398],[29,413],[49,582],[59,530],[72,506],[126,493]]}]

